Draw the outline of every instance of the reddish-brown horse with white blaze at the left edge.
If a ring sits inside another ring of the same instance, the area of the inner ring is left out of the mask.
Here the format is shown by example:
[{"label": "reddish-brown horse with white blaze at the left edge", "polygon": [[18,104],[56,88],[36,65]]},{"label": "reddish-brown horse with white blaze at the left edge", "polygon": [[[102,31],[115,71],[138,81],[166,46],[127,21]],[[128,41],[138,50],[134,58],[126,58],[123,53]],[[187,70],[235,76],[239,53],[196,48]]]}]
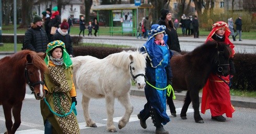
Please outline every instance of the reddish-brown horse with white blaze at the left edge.
[{"label": "reddish-brown horse with white blaze at the left edge", "polygon": [[44,98],[43,74],[47,69],[44,57],[43,53],[22,50],[0,60],[0,105],[4,109],[5,133],[15,133],[20,126],[22,100],[27,88],[32,90],[37,100]]}]

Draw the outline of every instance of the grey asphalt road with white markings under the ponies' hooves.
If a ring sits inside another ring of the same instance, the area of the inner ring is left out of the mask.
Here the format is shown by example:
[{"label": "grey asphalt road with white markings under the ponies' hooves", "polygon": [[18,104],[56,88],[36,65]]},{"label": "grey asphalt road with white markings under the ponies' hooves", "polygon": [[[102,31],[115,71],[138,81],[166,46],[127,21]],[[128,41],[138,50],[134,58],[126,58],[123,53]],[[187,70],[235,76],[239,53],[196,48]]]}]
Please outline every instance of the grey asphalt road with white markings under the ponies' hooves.
[{"label": "grey asphalt road with white markings under the ponies' hooves", "polygon": [[[91,99],[90,102],[90,115],[95,120],[98,127],[89,128],[85,127],[85,119],[83,116],[82,105],[82,93],[77,92],[77,119],[80,127],[80,133],[110,133],[106,130],[107,114],[105,108],[104,99]],[[152,119],[148,118],[147,129],[143,129],[139,125],[137,114],[143,109],[146,103],[145,97],[131,96],[131,102],[134,106],[130,122],[122,129],[118,129],[118,120],[124,114],[123,106],[116,100],[114,105],[114,124],[117,127],[117,133],[155,133],[155,127],[152,123]],[[187,120],[183,120],[179,117],[180,110],[183,102],[174,100],[176,105],[177,117],[170,115],[169,108],[167,113],[171,118],[171,122],[165,125],[165,129],[170,133],[255,133],[256,127],[256,109],[239,108],[235,107],[236,111],[232,118],[227,118],[226,122],[216,122],[211,119],[210,111],[206,111],[206,114],[201,114],[204,119],[204,124],[198,124],[194,122],[193,109],[190,105]],[[21,110],[21,125],[16,133],[44,133],[43,120],[40,113],[40,102],[34,99],[33,95],[30,95],[30,91],[27,91],[26,99],[24,100]],[[5,119],[3,113],[3,106],[0,106],[0,133],[5,132]]]}]

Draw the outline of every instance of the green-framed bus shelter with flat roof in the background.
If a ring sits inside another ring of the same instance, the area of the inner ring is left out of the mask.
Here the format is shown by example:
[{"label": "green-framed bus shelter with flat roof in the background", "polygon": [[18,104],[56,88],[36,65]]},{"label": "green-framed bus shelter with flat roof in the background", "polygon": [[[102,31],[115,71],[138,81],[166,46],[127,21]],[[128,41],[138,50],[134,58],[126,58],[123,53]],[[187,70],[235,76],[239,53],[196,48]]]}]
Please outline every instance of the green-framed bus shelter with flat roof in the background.
[{"label": "green-framed bus shelter with flat roof in the background", "polygon": [[[108,10],[109,16],[109,34],[113,36],[113,33],[132,33],[132,36],[137,34],[138,25],[138,9],[154,8],[150,4],[141,4],[141,6],[135,6],[135,4],[118,4],[118,5],[97,5],[92,6],[91,9],[97,12],[97,19],[99,20],[99,11]],[[121,22],[121,31],[113,29],[113,21]]]}]

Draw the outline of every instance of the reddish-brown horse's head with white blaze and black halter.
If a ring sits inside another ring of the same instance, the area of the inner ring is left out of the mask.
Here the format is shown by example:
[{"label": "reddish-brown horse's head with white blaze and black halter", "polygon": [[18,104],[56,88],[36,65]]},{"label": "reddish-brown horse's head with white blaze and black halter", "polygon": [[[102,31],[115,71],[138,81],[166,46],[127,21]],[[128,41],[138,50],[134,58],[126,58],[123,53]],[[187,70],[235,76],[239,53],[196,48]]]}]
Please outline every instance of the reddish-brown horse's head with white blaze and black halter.
[{"label": "reddish-brown horse's head with white blaze and black halter", "polygon": [[45,91],[43,89],[43,74],[47,69],[43,61],[44,55],[42,53],[37,53],[36,55],[28,54],[26,59],[27,63],[25,66],[25,77],[26,77],[26,88],[29,87],[34,97],[37,100],[43,99],[45,96]]}]

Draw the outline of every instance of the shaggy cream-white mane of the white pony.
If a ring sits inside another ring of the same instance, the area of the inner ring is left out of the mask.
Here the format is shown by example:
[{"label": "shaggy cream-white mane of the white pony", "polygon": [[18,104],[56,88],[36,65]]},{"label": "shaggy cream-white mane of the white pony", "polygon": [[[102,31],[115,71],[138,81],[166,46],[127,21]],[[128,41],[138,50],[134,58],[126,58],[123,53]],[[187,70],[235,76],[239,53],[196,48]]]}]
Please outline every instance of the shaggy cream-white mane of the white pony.
[{"label": "shaggy cream-white mane of the white pony", "polygon": [[133,61],[138,65],[138,68],[145,68],[146,67],[146,61],[145,58],[143,57],[142,53],[139,52],[138,50],[136,51],[122,51],[118,53],[113,53],[109,55],[106,58],[109,58],[109,62],[119,68],[125,68],[129,69],[131,60],[130,60],[130,55],[133,56]]}]

